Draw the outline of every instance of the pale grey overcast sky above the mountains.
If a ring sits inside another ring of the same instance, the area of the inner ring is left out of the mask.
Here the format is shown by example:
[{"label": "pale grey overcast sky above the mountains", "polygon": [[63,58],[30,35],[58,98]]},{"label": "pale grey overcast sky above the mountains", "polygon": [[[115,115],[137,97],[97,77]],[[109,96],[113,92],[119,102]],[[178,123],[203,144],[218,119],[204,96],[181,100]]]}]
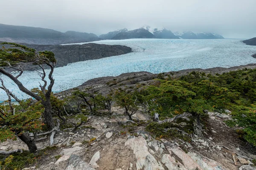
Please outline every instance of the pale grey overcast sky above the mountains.
[{"label": "pale grey overcast sky above the mountains", "polygon": [[256,0],[0,0],[0,23],[105,34],[143,25],[256,37]]}]

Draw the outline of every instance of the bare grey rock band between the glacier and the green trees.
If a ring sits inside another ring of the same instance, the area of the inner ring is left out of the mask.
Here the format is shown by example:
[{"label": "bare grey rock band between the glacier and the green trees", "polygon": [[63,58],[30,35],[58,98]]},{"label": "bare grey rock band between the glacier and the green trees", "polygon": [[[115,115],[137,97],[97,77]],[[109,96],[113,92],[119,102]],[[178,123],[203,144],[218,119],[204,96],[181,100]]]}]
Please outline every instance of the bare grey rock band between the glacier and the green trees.
[{"label": "bare grey rock band between the glacier and the green trees", "polygon": [[240,65],[230,68],[222,68],[222,67],[215,67],[215,68],[207,68],[207,69],[201,69],[201,68],[193,68],[193,69],[186,69],[186,70],[180,70],[180,71],[171,71],[160,74],[152,74],[146,71],[141,72],[132,72],[132,73],[123,73],[116,77],[99,77],[95,79],[90,79],[86,82],[84,82],[82,85],[71,88],[66,91],[62,91],[59,93],[56,93],[56,96],[63,97],[63,96],[69,96],[73,91],[81,90],[81,91],[87,91],[87,89],[93,89],[94,91],[103,91],[105,93],[108,93],[111,91],[111,89],[120,87],[120,86],[126,86],[126,87],[134,87],[137,84],[140,83],[152,83],[156,78],[159,78],[160,76],[163,76],[167,78],[168,76],[172,77],[180,77],[182,75],[186,75],[189,72],[192,71],[198,71],[198,72],[205,72],[206,74],[222,74],[224,72],[229,71],[236,71],[239,69],[254,69],[256,68],[256,63],[248,64],[248,65]]}]

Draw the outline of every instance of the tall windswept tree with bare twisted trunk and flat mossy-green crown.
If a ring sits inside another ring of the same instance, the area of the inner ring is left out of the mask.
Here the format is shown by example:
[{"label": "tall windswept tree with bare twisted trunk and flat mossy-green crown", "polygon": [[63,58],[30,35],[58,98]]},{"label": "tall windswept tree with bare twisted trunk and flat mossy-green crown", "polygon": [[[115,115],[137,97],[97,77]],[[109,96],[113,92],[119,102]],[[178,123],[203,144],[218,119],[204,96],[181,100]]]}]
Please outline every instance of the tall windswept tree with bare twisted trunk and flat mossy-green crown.
[{"label": "tall windswept tree with bare twisted trunk and flat mossy-green crown", "polygon": [[[50,99],[52,86],[54,85],[52,73],[56,65],[54,54],[50,51],[37,52],[33,48],[28,48],[25,45],[18,45],[16,43],[4,42],[2,45],[11,45],[11,47],[6,48],[3,46],[3,48],[0,49],[0,73],[9,77],[18,86],[20,91],[41,102],[44,106],[44,122],[50,129],[53,129],[55,126],[52,119],[52,105]],[[41,70],[36,71],[40,74],[41,81],[43,82],[42,84],[39,82],[43,97],[32,92],[19,81],[19,77],[23,74],[24,68],[32,65],[37,65]],[[46,66],[50,69],[49,74],[45,71]],[[10,69],[17,71],[18,74],[10,73],[8,71]],[[48,86],[47,77],[49,79]]]}]

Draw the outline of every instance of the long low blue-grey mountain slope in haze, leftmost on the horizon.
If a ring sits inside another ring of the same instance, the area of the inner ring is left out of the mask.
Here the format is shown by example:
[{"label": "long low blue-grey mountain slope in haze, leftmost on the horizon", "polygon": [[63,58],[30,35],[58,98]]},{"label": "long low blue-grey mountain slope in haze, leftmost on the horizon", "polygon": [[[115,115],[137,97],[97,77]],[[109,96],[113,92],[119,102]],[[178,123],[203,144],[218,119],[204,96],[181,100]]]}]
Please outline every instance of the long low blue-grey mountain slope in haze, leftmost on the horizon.
[{"label": "long low blue-grey mountain slope in haze, leftmost on the horizon", "polygon": [[102,40],[95,34],[0,24],[0,41],[29,44],[64,44]]}]

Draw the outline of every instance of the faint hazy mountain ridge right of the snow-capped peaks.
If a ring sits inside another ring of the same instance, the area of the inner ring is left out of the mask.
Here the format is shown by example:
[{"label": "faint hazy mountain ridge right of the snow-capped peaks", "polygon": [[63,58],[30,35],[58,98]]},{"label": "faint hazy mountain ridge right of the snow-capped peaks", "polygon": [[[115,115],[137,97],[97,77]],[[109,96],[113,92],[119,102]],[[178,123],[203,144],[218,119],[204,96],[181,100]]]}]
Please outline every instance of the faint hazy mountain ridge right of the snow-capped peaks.
[{"label": "faint hazy mountain ridge right of the snow-capped peaks", "polygon": [[174,34],[182,39],[224,39],[221,35],[213,33],[195,34],[192,31],[185,31],[183,33],[175,32]]}]

